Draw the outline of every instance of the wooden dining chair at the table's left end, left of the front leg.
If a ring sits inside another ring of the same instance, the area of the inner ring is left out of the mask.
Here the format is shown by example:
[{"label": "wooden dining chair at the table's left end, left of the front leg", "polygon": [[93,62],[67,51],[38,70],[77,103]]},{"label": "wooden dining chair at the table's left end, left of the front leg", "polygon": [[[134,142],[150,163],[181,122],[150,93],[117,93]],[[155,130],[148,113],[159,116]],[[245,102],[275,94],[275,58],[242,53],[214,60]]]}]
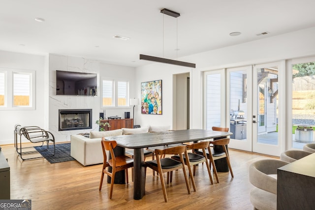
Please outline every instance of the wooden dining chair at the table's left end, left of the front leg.
[{"label": "wooden dining chair at the table's left end, left of the front leg", "polygon": [[[128,183],[128,168],[133,167],[133,159],[126,155],[115,156],[114,149],[117,146],[116,141],[105,141],[105,138],[102,137],[101,144],[102,144],[104,162],[103,162],[103,168],[102,168],[102,175],[101,175],[100,183],[99,183],[99,191],[102,189],[104,174],[107,174],[108,176],[111,177],[110,193],[109,193],[109,198],[111,199],[112,194],[113,194],[115,173],[125,170],[126,183]],[[106,150],[109,150],[110,155],[111,155],[111,159],[109,159],[108,161],[107,161]],[[112,172],[106,169],[107,167],[112,167]]]}]

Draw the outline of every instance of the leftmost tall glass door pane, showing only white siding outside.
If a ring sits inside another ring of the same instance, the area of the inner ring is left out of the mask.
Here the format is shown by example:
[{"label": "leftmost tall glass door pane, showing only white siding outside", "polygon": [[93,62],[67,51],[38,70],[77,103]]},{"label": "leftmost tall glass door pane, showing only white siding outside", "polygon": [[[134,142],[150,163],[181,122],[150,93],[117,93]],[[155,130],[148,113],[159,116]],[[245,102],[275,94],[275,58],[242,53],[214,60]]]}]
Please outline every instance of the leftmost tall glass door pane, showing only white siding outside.
[{"label": "leftmost tall glass door pane, showing only white siding outside", "polygon": [[207,75],[207,130],[221,126],[221,74]]}]

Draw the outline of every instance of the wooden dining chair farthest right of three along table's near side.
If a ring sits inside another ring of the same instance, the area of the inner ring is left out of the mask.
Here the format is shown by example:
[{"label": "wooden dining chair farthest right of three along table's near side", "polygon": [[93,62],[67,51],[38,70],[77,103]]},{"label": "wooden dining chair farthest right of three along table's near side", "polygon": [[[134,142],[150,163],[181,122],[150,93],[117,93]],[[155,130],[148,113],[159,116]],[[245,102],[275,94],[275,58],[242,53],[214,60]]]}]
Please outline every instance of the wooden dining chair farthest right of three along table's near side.
[{"label": "wooden dining chair farthest right of three along table's near side", "polygon": [[[226,162],[227,162],[227,165],[228,165],[228,168],[230,170],[231,176],[234,177],[233,171],[232,171],[232,167],[231,167],[231,163],[230,163],[230,157],[229,157],[229,154],[228,154],[228,152],[226,150],[226,147],[227,147],[228,143],[230,143],[230,139],[228,139],[228,138],[218,139],[216,141],[210,141],[210,144],[212,144],[214,146],[217,146],[217,147],[221,147],[223,152],[217,151],[217,150],[213,150],[213,149],[210,149],[210,150],[207,149],[206,150],[207,157],[208,157],[208,159],[210,159],[210,166],[212,165],[212,167],[213,167],[213,172],[214,172],[214,174],[216,176],[216,180],[217,180],[218,183],[219,183],[219,176],[218,176],[216,164],[214,162],[215,160],[218,160],[218,159],[221,159],[221,158],[225,158]],[[203,155],[203,153],[201,153],[201,151],[196,151],[196,153]]]}]

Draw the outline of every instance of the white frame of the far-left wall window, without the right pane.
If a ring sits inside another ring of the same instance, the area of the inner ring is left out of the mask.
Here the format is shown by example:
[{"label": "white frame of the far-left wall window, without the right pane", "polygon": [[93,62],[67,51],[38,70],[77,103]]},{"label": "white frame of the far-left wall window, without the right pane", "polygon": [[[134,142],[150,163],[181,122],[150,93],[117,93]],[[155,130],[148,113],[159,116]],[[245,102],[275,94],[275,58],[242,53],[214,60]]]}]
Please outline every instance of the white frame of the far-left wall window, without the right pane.
[{"label": "white frame of the far-left wall window, without the right pane", "polygon": [[[0,110],[35,110],[35,73],[33,70],[0,68],[0,72],[4,72],[4,106],[0,106]],[[13,74],[29,74],[30,75],[30,105],[14,106],[13,104]]]}]

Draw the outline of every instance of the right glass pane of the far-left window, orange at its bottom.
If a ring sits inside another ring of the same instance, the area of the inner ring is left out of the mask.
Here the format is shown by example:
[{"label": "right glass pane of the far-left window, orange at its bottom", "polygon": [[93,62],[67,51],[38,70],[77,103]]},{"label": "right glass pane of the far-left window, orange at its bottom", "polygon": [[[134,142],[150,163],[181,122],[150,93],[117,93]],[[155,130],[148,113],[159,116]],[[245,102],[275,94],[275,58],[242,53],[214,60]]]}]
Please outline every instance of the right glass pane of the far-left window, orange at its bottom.
[{"label": "right glass pane of the far-left window, orange at its bottom", "polygon": [[30,106],[31,75],[13,73],[13,106]]}]

